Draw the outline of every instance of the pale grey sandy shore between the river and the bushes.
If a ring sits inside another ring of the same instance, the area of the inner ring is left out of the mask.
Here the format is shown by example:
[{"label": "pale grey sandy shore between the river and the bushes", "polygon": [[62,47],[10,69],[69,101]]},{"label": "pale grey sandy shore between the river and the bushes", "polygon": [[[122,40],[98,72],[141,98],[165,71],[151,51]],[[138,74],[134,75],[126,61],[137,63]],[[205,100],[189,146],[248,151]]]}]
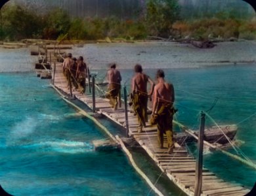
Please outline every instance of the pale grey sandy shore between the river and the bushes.
[{"label": "pale grey sandy shore between the river and the bushes", "polygon": [[[145,69],[255,64],[256,41],[216,44],[214,48],[200,49],[179,42],[100,43],[74,46],[67,52],[85,57],[91,69],[107,69],[111,62],[116,62],[119,69],[133,69],[136,63]],[[30,48],[0,48],[0,72],[33,71],[36,62]]]}]

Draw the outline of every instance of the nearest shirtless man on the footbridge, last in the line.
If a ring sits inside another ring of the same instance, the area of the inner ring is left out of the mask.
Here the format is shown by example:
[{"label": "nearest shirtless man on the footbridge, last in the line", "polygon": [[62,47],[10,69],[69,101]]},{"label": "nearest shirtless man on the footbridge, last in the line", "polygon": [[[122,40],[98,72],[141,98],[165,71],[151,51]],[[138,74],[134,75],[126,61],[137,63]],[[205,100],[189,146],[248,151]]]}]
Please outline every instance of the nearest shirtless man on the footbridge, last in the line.
[{"label": "nearest shirtless man on the footbridge, last in the line", "polygon": [[173,153],[173,102],[175,93],[173,84],[165,82],[165,74],[159,69],[157,74],[158,84],[153,93],[152,116],[157,114],[158,144],[163,148],[163,134],[166,134],[168,144],[168,154]]}]

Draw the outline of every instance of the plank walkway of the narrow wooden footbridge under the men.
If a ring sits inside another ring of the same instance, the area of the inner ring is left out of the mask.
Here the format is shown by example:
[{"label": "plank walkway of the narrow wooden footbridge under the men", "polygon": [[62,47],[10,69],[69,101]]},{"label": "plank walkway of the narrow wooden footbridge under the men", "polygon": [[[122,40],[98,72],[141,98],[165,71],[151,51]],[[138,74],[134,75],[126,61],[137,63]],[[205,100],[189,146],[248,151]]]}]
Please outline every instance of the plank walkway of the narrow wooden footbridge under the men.
[{"label": "plank walkway of the narrow wooden footbridge under the men", "polygon": [[[61,63],[56,63],[56,72],[54,78],[54,86],[63,91],[67,95],[70,94],[68,90],[68,82],[62,74]],[[88,90],[87,90],[88,91]],[[90,108],[93,108],[92,95],[81,95],[77,91],[72,92],[73,95],[85,103]],[[119,108],[113,111],[108,103],[108,99],[96,97],[96,112],[103,114],[110,120],[125,127],[125,111]],[[146,124],[146,128],[142,129],[142,133],[137,133],[138,120],[133,113],[129,113],[129,135],[146,150],[148,155],[155,161],[156,165],[165,172],[170,180],[172,180],[179,188],[187,195],[194,195],[196,159],[192,157],[186,148],[175,143],[174,153],[167,154],[166,139],[164,149],[158,147],[156,126],[152,127]],[[215,176],[213,172],[203,168],[203,184],[202,195],[245,195],[249,189],[245,189],[239,184],[224,182],[224,180]]]}]

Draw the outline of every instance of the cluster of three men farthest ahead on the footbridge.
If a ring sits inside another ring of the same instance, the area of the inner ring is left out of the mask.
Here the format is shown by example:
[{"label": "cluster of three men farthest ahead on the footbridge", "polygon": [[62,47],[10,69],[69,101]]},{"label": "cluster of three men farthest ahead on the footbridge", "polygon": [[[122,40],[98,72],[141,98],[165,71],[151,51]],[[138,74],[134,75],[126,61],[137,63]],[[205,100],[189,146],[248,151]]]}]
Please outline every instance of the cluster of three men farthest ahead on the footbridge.
[{"label": "cluster of three men farthest ahead on the footbridge", "polygon": [[74,87],[72,90],[79,90],[81,93],[85,93],[86,90],[86,78],[88,76],[87,65],[83,61],[83,57],[72,57],[71,53],[68,53],[64,62],[62,63],[63,73],[68,80],[68,88]]}]

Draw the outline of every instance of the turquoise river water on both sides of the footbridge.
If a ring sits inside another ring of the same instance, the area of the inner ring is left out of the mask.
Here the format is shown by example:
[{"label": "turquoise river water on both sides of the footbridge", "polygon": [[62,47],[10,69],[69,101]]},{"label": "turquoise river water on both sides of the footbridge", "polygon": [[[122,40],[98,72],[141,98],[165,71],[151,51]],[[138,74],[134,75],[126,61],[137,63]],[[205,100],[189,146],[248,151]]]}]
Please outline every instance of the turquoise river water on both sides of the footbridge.
[{"label": "turquoise river water on both sides of the footbridge", "polygon": [[[1,52],[0,56],[9,55]],[[11,64],[20,59],[5,61]],[[22,63],[31,62],[33,59]],[[156,69],[144,71],[154,78]],[[98,78],[104,73],[99,70]],[[129,88],[133,71],[125,69],[121,74]],[[254,64],[165,69],[165,74],[175,86],[179,109],[175,118],[179,122],[198,129],[198,114],[211,108],[207,114],[215,123],[238,125],[239,148],[256,163]],[[33,71],[0,73],[1,186],[12,195],[154,195],[123,152],[94,150],[91,142],[106,135],[86,118],[70,117],[75,110],[60,99],[49,82],[37,78]],[[206,118],[207,126],[215,123]],[[114,124],[108,128],[117,129]],[[193,146],[191,150],[195,152]],[[232,148],[227,150],[236,153]],[[147,167],[142,154],[138,156],[142,167]],[[203,161],[224,180],[249,189],[255,183],[254,169],[220,152],[205,153]],[[163,183],[160,187],[165,195],[182,195],[173,184],[168,189],[169,182]]]}]

